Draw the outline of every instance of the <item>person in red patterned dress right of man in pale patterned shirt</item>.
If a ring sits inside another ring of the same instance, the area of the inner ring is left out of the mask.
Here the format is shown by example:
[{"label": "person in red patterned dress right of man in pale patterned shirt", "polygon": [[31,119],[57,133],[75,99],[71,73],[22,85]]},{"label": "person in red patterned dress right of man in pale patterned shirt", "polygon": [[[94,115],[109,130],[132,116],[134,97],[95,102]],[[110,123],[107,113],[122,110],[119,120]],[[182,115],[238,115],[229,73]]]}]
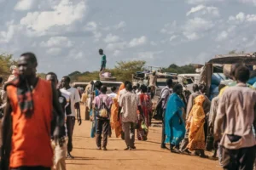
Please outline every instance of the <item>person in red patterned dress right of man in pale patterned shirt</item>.
[{"label": "person in red patterned dress right of man in pale patterned shirt", "polygon": [[152,111],[152,102],[150,96],[147,94],[147,87],[142,85],[141,90],[142,94],[139,94],[139,99],[143,109],[143,116],[141,116],[141,114],[137,114],[137,139],[147,140],[149,115]]}]

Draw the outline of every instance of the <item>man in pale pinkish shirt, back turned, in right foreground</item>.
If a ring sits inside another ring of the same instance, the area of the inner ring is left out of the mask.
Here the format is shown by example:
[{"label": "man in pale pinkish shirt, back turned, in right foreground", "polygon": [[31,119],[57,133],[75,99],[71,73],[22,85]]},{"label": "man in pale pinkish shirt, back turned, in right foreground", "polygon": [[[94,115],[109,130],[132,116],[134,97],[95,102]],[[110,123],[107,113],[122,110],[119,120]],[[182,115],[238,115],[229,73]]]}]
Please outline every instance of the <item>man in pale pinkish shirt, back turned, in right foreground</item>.
[{"label": "man in pale pinkish shirt, back turned, in right foreground", "polygon": [[247,67],[237,67],[236,86],[225,89],[218,104],[214,136],[220,141],[222,163],[227,170],[253,170],[256,92],[246,85],[249,77]]}]

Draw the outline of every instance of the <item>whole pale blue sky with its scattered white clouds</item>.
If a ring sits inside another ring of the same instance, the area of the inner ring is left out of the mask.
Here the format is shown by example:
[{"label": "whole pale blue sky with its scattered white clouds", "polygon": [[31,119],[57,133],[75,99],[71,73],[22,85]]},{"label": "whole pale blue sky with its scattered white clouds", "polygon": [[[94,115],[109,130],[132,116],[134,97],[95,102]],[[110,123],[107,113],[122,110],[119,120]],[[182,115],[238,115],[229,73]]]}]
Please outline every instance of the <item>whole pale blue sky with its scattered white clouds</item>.
[{"label": "whole pale blue sky with its scattered white clouds", "polygon": [[38,72],[204,63],[230,50],[254,52],[256,0],[0,0],[0,52],[38,56]]}]

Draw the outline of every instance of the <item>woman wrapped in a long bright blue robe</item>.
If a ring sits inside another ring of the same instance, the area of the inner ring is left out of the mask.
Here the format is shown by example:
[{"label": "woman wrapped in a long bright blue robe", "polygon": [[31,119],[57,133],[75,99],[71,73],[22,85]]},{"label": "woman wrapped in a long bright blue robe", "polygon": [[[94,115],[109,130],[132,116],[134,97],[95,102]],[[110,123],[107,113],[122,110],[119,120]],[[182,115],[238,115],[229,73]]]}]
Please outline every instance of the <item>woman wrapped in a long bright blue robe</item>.
[{"label": "woman wrapped in a long bright blue robe", "polygon": [[177,146],[185,135],[185,124],[183,122],[183,100],[179,97],[183,93],[183,87],[177,84],[173,88],[173,94],[167,101],[165,115],[166,143],[171,145],[171,151],[179,153]]}]

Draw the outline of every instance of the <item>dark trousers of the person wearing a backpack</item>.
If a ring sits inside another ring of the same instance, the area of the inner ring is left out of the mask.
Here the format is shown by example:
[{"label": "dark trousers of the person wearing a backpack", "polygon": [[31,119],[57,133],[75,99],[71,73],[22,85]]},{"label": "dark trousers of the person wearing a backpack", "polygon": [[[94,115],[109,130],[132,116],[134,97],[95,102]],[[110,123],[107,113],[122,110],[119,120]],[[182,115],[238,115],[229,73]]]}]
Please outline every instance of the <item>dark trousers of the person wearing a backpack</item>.
[{"label": "dark trousers of the person wearing a backpack", "polygon": [[[96,120],[96,144],[97,147],[106,147],[108,143],[109,120]],[[103,141],[102,141],[103,136]]]}]

